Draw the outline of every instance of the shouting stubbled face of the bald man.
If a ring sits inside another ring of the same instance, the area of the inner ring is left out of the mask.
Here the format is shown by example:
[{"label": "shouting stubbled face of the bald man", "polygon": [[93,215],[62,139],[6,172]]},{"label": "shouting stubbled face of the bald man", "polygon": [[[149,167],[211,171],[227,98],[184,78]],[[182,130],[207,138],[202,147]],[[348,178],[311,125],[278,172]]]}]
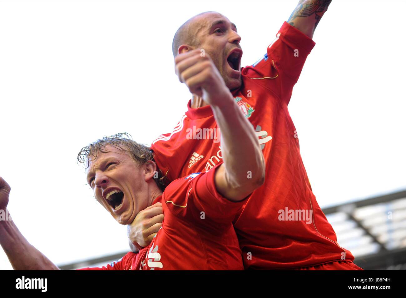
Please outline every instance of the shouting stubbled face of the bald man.
[{"label": "shouting stubbled face of the bald man", "polygon": [[241,37],[227,17],[205,13],[195,17],[190,32],[194,32],[199,48],[208,53],[230,90],[241,86]]}]

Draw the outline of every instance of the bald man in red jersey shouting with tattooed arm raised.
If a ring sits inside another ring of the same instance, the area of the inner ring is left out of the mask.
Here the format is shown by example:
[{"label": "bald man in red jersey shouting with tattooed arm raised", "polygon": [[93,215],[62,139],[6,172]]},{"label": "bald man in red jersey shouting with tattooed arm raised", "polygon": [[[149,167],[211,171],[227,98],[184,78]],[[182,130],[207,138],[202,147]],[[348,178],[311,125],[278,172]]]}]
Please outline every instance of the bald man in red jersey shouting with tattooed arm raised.
[{"label": "bald man in red jersey shouting with tattooed arm raised", "polygon": [[[208,91],[201,84],[201,73],[210,71],[207,65],[213,63],[253,125],[266,160],[265,183],[233,221],[246,269],[362,270],[352,262],[350,251],[337,243],[317,204],[287,108],[315,45],[314,30],[329,4],[300,1],[266,54],[248,67],[240,66],[241,37],[235,24],[220,13],[192,17],[173,39],[176,74],[192,95],[173,132],[159,136],[151,148],[168,181],[208,171],[222,161],[224,148],[205,101]],[[130,241],[138,248],[147,245],[159,228],[158,216],[140,212],[129,226]]]}]

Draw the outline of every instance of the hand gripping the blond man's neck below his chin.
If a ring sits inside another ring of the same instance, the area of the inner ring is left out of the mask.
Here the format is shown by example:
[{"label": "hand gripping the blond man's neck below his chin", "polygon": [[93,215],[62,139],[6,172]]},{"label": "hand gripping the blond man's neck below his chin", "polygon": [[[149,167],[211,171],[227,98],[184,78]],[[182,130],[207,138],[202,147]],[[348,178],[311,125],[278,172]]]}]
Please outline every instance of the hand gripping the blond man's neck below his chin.
[{"label": "hand gripping the blond man's neck below his chin", "polygon": [[148,246],[162,227],[163,220],[162,204],[155,203],[138,212],[133,222],[127,225],[127,237],[138,249]]}]

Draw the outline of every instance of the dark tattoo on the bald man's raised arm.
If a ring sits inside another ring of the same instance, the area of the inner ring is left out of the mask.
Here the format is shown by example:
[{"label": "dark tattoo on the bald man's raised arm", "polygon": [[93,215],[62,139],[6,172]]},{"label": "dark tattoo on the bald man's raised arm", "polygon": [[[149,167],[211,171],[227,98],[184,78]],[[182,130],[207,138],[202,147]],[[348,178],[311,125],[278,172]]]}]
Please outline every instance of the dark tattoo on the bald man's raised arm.
[{"label": "dark tattoo on the bald man's raised arm", "polygon": [[313,28],[313,32],[319,24],[320,19],[322,18],[324,12],[327,10],[328,5],[330,5],[331,0],[311,0],[311,1],[304,1],[300,0],[298,6],[290,15],[287,22],[289,25],[294,26],[294,21],[297,17],[309,17],[311,15],[315,15],[315,25]]}]

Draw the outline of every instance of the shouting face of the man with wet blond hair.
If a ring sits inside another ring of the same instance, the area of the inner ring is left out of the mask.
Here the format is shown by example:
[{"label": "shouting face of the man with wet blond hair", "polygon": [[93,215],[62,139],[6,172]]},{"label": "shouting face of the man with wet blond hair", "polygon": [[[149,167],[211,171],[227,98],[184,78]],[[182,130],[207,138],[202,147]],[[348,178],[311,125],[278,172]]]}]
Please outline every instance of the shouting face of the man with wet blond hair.
[{"label": "shouting face of the man with wet blond hair", "polygon": [[127,153],[111,145],[106,145],[106,149],[108,153],[99,152],[89,162],[87,182],[97,201],[114,219],[128,225],[151,203],[145,171]]}]

